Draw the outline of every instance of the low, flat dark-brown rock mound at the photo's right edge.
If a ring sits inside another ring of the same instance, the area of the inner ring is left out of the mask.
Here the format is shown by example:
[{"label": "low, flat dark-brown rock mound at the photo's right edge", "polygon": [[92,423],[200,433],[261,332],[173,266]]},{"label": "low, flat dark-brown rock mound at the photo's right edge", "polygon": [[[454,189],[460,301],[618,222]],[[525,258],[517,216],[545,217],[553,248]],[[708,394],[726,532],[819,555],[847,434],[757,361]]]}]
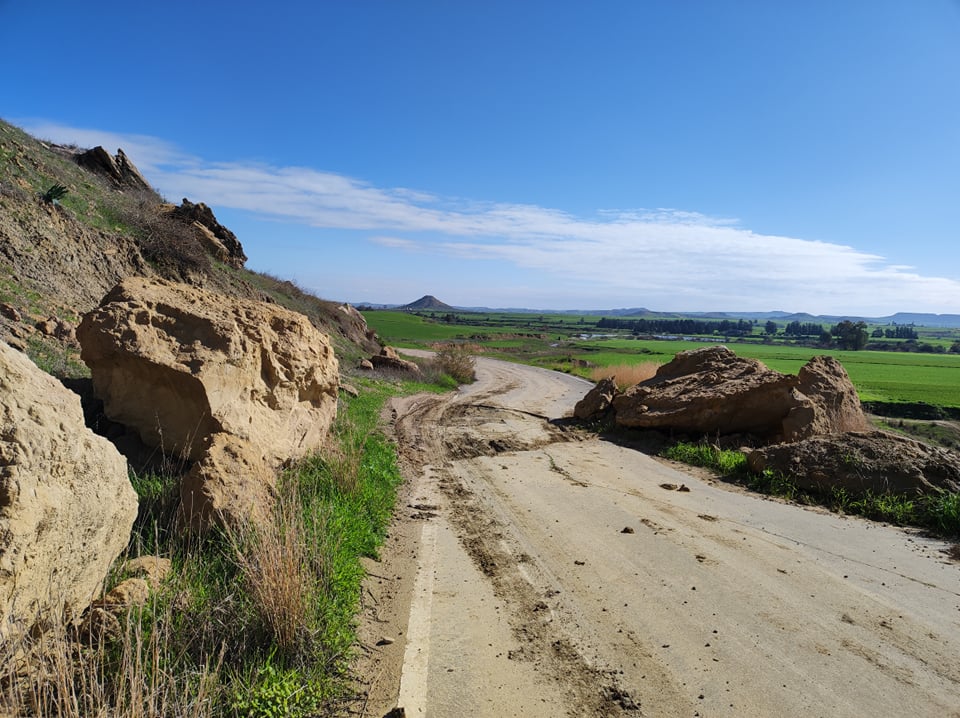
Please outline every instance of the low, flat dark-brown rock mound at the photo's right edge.
[{"label": "low, flat dark-brown rock mound at the photo's right edge", "polygon": [[882,431],[825,434],[755,449],[752,471],[791,476],[800,488],[853,495],[960,491],[960,455]]}]

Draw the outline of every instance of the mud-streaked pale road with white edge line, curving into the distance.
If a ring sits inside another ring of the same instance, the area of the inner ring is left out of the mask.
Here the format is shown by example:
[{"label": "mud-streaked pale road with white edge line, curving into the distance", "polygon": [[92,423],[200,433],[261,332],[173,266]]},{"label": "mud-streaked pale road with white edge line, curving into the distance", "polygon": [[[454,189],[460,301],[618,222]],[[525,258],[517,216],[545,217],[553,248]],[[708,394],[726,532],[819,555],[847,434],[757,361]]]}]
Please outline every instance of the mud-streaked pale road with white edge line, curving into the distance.
[{"label": "mud-streaked pale road with white edge line, curving into the distance", "polygon": [[408,482],[358,712],[960,716],[946,544],[565,429],[579,379],[477,374],[393,407]]}]

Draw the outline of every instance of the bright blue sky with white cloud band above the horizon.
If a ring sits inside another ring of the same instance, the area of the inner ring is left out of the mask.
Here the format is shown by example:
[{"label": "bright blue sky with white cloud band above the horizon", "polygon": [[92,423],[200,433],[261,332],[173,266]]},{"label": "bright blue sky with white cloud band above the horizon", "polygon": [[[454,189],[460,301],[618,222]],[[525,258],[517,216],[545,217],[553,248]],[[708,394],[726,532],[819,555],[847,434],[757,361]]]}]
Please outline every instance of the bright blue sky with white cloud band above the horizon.
[{"label": "bright blue sky with white cloud band above the horizon", "polygon": [[329,299],[960,313],[956,0],[0,0],[0,66]]}]

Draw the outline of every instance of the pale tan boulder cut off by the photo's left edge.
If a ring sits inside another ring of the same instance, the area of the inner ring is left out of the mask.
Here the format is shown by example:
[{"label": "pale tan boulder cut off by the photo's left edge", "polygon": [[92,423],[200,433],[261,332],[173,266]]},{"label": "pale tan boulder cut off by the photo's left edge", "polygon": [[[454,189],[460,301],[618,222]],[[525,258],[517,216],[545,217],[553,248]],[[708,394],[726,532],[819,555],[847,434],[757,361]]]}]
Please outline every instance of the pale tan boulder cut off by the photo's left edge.
[{"label": "pale tan boulder cut off by the photo's left edge", "polygon": [[4,645],[79,618],[127,547],[137,496],[126,460],[84,425],[79,397],[2,343],[0,419]]}]

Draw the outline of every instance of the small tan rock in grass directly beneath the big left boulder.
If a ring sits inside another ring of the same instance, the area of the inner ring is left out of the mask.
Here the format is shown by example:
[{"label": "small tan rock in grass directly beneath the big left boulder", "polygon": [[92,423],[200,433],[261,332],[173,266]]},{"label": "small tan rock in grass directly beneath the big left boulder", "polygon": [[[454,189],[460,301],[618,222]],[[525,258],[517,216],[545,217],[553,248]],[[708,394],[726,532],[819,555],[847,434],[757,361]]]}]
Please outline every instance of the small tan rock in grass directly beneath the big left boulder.
[{"label": "small tan rock in grass directly beneath the big left boulder", "polygon": [[240,528],[270,518],[277,474],[263,456],[228,434],[216,434],[180,484],[181,520],[192,530]]}]

